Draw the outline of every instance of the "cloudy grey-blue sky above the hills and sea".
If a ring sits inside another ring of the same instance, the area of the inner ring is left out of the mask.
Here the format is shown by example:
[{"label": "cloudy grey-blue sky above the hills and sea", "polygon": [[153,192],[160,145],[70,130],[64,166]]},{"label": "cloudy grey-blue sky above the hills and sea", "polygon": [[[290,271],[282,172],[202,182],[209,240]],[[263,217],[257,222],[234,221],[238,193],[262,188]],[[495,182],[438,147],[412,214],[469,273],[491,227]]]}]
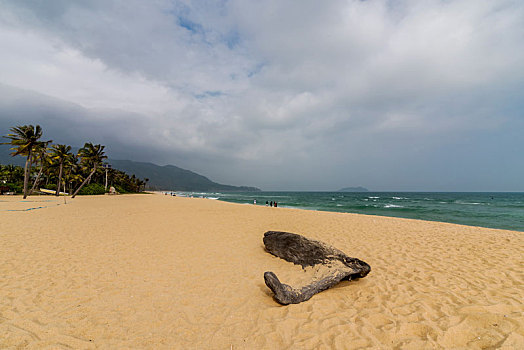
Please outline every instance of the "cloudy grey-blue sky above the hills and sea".
[{"label": "cloudy grey-blue sky above the hills and sea", "polygon": [[0,0],[0,134],[263,190],[524,191],[522,0]]}]

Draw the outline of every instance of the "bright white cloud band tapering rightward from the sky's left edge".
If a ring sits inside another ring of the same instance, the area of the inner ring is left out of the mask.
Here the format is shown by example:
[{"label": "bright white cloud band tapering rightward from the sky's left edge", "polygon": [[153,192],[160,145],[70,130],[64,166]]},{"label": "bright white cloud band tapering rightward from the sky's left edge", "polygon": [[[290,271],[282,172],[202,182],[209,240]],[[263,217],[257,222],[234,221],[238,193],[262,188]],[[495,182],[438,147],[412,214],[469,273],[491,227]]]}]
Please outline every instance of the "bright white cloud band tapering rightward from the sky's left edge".
[{"label": "bright white cloud band tapering rightward from the sky's left edge", "polygon": [[176,92],[139,73],[123,74],[63,43],[0,27],[2,83],[38,91],[87,108],[139,113],[173,111]]}]

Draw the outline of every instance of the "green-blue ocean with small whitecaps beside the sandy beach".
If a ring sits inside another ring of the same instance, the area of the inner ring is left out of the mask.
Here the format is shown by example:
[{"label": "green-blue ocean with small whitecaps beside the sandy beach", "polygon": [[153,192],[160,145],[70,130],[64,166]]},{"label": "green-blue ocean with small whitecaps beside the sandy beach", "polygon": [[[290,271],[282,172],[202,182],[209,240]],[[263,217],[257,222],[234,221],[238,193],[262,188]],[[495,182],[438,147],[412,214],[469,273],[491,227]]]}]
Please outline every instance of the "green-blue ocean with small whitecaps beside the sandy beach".
[{"label": "green-blue ocean with small whitecaps beside the sandy beach", "polygon": [[[524,193],[216,192],[179,193],[225,202],[358,213],[524,231]],[[278,209],[278,208],[277,208]]]}]

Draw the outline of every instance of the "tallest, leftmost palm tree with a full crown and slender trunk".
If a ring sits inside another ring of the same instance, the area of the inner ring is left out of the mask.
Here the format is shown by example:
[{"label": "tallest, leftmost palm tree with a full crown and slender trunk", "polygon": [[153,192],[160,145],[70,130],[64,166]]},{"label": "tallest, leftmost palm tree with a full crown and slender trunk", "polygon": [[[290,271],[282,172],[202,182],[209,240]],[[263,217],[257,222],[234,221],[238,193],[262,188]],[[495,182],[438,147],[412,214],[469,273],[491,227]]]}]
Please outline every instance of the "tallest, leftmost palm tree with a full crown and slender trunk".
[{"label": "tallest, leftmost palm tree with a full crown and slender trunk", "polygon": [[24,168],[24,199],[27,198],[27,184],[29,183],[29,174],[31,171],[31,161],[33,156],[33,148],[41,143],[38,141],[42,137],[42,128],[40,125],[22,125],[16,126],[10,129],[12,134],[4,136],[7,139],[11,139],[11,142],[5,142],[5,145],[13,146],[11,155],[23,155],[27,159],[25,161]]}]

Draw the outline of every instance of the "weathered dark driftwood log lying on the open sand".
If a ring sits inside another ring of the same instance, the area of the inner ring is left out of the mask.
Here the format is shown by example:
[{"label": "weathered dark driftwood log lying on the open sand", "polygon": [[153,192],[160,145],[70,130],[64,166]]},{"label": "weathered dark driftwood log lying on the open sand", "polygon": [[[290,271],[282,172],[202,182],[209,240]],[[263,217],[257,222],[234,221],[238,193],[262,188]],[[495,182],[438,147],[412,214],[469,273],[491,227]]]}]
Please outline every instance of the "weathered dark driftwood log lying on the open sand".
[{"label": "weathered dark driftwood log lying on the open sand", "polygon": [[[329,267],[330,273],[327,276],[300,289],[281,283],[273,272],[265,272],[266,285],[275,293],[276,301],[283,305],[301,303],[342,280],[362,278],[371,271],[371,267],[362,260],[351,258],[336,248],[294,233],[268,231],[264,233],[264,245],[269,253],[301,265],[302,268],[317,264]],[[333,265],[336,267],[332,268]]]}]

